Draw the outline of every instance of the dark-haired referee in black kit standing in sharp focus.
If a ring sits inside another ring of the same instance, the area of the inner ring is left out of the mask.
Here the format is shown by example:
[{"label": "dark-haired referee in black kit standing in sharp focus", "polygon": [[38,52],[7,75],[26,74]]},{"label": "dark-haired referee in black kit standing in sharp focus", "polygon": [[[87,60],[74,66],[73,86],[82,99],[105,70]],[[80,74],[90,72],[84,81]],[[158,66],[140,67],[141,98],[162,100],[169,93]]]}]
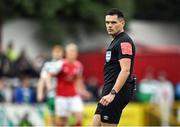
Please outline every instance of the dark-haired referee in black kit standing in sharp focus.
[{"label": "dark-haired referee in black kit standing in sharp focus", "polygon": [[104,87],[93,119],[93,126],[117,126],[122,110],[131,100],[135,82],[131,78],[135,46],[124,32],[123,13],[110,9],[105,16],[106,29],[112,41],[106,50]]}]

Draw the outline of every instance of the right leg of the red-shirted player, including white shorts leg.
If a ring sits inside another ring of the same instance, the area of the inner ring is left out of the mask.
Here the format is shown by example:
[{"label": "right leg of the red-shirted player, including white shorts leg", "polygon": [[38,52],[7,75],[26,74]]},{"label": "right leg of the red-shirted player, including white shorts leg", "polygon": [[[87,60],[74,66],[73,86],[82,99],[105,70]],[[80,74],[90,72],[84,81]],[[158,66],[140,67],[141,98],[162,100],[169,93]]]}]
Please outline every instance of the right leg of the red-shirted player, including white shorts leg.
[{"label": "right leg of the red-shirted player, including white shorts leg", "polygon": [[83,101],[80,96],[74,96],[70,99],[70,111],[76,119],[76,126],[81,126],[83,121]]}]

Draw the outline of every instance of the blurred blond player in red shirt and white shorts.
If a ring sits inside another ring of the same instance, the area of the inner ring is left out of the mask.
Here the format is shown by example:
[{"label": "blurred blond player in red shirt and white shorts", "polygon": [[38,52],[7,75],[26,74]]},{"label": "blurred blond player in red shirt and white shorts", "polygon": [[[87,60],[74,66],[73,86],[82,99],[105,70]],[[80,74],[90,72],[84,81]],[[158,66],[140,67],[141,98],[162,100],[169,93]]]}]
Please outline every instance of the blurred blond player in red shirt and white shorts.
[{"label": "blurred blond player in red shirt and white shorts", "polygon": [[57,77],[55,113],[56,125],[66,126],[70,114],[75,117],[75,125],[80,126],[83,119],[82,97],[89,98],[91,95],[86,91],[82,73],[82,64],[77,60],[78,47],[74,43],[65,47],[65,59],[58,61],[56,72],[50,73]]}]

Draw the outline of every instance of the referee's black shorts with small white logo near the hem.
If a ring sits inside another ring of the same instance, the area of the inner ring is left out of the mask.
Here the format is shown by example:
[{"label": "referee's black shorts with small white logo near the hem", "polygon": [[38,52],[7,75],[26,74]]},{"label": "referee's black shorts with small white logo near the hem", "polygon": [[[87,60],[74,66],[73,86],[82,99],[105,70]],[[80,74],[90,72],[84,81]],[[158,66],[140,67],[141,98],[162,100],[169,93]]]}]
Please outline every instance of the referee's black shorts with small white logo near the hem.
[{"label": "referee's black shorts with small white logo near the hem", "polygon": [[95,114],[100,114],[101,122],[111,124],[119,123],[123,109],[132,98],[133,89],[133,84],[125,84],[108,106],[103,106],[98,103]]}]

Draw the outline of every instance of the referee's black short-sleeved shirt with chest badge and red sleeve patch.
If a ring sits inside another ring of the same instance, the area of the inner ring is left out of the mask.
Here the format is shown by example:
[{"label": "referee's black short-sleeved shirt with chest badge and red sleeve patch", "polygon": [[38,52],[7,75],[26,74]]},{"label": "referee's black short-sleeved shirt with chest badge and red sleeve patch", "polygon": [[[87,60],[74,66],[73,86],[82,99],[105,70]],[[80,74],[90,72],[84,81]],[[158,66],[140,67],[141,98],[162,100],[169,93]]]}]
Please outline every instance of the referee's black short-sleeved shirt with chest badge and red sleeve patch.
[{"label": "referee's black short-sleeved shirt with chest badge and red sleeve patch", "polygon": [[130,75],[126,82],[131,80],[131,74],[134,64],[135,46],[132,39],[125,33],[121,32],[109,45],[106,50],[104,64],[104,94],[108,94],[114,86],[116,79],[121,71],[119,60],[122,58],[131,59]]}]

